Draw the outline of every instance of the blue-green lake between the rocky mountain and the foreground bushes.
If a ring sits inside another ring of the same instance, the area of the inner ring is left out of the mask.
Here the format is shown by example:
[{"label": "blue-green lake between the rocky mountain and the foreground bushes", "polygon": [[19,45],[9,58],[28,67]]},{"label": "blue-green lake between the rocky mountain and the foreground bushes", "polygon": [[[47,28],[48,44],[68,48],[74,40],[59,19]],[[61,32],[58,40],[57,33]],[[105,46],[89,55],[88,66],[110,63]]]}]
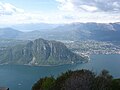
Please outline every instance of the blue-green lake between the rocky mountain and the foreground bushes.
[{"label": "blue-green lake between the rocky mountain and the foreground bushes", "polygon": [[58,76],[70,69],[90,69],[94,72],[107,69],[115,78],[120,78],[120,55],[91,55],[90,59],[84,64],[61,66],[0,65],[0,86],[9,87],[10,90],[31,90],[39,78]]}]

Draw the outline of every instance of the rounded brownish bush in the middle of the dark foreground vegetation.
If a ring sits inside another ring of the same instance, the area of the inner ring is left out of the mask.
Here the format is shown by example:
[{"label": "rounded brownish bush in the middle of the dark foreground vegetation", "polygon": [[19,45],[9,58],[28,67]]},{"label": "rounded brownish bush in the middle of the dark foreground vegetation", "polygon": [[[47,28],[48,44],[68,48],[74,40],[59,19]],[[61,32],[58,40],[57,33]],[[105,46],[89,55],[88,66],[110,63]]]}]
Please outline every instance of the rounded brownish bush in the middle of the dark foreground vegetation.
[{"label": "rounded brownish bush in the middle of the dark foreground vegetation", "polygon": [[65,81],[62,90],[91,90],[95,75],[89,70],[74,71]]}]

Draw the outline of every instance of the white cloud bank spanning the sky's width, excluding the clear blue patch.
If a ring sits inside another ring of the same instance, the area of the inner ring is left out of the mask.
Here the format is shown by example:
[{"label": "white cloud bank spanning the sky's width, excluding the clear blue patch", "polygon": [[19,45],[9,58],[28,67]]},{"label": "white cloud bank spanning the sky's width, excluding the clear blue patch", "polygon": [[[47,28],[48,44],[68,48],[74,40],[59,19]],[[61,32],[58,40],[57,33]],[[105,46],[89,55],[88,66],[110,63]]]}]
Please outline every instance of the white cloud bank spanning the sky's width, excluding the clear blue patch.
[{"label": "white cloud bank spanning the sky's width, excluding the clear blue patch", "polygon": [[[118,2],[120,0],[118,1],[56,0],[56,1],[59,3],[58,11],[53,13],[40,11],[26,12],[25,10],[15,7],[10,3],[0,2],[0,25],[20,23],[40,23],[40,22],[44,23],[120,22],[120,12],[118,12],[120,11],[119,10],[120,3]],[[105,3],[102,3],[103,1],[105,1]],[[108,2],[105,7],[107,1],[110,2]],[[109,7],[110,5],[112,5],[112,9]]]}]

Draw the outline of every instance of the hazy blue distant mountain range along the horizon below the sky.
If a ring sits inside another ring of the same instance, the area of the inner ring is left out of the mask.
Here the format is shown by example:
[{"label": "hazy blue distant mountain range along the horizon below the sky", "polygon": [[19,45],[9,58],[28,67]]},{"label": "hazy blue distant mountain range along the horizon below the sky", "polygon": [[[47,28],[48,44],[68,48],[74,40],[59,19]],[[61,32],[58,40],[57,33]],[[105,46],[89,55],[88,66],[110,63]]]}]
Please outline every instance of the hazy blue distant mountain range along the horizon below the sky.
[{"label": "hazy blue distant mountain range along the horizon below the sky", "polygon": [[31,40],[100,40],[119,41],[120,23],[72,23],[50,29],[36,28],[35,31],[21,32],[12,28],[0,28],[0,38]]}]

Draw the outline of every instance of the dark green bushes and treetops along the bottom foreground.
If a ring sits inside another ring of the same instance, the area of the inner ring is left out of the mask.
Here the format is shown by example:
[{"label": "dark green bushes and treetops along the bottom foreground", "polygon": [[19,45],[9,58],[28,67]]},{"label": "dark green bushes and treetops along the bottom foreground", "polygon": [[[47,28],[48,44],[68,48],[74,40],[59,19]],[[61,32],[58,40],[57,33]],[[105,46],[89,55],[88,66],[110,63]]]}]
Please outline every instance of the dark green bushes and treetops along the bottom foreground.
[{"label": "dark green bushes and treetops along the bottom foreground", "polygon": [[99,75],[89,70],[67,71],[57,78],[41,78],[32,90],[120,90],[120,79],[113,79],[107,70]]}]

